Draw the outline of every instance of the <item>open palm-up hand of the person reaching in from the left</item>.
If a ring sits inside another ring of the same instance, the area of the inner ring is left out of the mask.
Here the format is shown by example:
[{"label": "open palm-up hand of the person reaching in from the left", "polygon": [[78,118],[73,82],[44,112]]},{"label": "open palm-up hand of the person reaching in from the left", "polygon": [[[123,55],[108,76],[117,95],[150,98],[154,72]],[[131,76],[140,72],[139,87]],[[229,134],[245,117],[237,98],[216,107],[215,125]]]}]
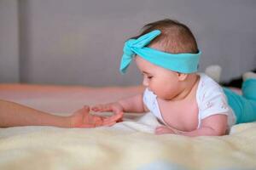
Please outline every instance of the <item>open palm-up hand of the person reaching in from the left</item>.
[{"label": "open palm-up hand of the person reaching in from the left", "polygon": [[90,115],[90,108],[85,105],[84,108],[75,111],[69,118],[71,120],[71,127],[100,127],[114,125],[121,116],[104,117]]}]

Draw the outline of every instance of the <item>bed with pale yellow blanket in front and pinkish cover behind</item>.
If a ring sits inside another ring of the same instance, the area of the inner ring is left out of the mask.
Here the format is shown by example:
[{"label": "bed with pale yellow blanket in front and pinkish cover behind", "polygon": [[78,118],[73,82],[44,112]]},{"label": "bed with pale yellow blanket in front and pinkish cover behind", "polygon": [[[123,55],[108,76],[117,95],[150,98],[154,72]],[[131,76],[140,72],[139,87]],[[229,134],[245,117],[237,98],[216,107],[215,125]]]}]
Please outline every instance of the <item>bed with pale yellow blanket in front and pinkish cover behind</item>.
[{"label": "bed with pale yellow blanket in front and pinkish cover behind", "polygon": [[[89,88],[0,84],[0,99],[67,116],[83,105],[137,94],[142,87]],[[154,135],[150,113],[127,114],[113,127],[0,128],[0,169],[256,169],[256,122],[230,135],[189,138]]]}]

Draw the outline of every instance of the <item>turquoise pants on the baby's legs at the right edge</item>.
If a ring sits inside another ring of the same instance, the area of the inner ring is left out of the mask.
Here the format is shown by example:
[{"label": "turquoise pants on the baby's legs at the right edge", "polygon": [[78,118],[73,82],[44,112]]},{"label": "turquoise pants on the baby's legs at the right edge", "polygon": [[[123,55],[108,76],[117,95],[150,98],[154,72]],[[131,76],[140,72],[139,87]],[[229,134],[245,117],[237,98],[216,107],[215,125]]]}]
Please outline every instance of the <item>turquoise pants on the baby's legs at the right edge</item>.
[{"label": "turquoise pants on the baby's legs at the right edge", "polygon": [[242,95],[238,95],[228,88],[224,93],[230,107],[236,114],[236,124],[256,121],[256,79],[247,79],[242,83]]}]

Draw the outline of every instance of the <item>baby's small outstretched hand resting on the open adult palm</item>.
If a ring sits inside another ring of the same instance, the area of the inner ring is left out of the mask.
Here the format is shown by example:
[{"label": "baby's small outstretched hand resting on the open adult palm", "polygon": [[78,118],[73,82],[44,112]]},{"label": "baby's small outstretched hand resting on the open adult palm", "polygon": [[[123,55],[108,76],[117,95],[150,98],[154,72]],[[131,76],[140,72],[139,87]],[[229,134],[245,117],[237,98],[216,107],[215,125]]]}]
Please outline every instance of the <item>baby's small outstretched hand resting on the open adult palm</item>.
[{"label": "baby's small outstretched hand resting on the open adult palm", "polygon": [[112,111],[114,113],[114,115],[110,116],[109,118],[119,117],[119,120],[117,120],[117,122],[121,122],[122,118],[124,116],[124,108],[118,102],[109,103],[109,104],[105,104],[105,105],[94,105],[91,107],[91,110],[96,111],[96,112]]}]

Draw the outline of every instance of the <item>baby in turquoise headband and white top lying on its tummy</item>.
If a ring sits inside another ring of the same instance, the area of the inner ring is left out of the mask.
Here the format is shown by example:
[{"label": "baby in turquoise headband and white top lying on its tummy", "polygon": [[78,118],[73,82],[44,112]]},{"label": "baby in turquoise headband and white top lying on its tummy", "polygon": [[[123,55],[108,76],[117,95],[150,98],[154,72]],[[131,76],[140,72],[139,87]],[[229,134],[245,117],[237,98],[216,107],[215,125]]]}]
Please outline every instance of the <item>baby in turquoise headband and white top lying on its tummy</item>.
[{"label": "baby in turquoise headband and white top lying on its tummy", "polygon": [[[201,51],[189,28],[175,20],[159,20],[125,42],[120,71],[132,59],[143,74],[145,90],[115,103],[95,105],[92,111],[144,113],[163,124],[155,133],[217,136],[230,126],[256,120],[256,79],[243,84],[243,97],[202,73],[197,73]],[[255,77],[249,76],[249,77]],[[254,88],[253,88],[254,87]]]}]

